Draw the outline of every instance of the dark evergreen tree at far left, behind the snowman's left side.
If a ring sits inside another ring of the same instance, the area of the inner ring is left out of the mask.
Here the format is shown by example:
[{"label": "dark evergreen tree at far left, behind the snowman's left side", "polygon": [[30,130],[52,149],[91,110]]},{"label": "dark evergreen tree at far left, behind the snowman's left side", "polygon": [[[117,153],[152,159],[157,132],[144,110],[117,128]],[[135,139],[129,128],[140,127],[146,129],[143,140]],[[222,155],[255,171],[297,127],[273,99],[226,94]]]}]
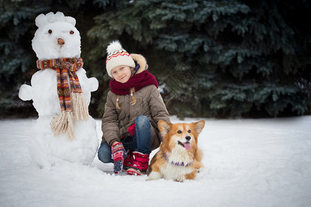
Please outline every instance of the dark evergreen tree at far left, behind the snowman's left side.
[{"label": "dark evergreen tree at far left, behind the snowman's left side", "polygon": [[17,97],[21,83],[28,77],[28,68],[32,65],[33,55],[27,32],[32,27],[34,13],[46,10],[41,4],[32,3],[28,7],[25,2],[1,2],[0,7],[0,112],[15,113],[13,108],[29,106]]}]

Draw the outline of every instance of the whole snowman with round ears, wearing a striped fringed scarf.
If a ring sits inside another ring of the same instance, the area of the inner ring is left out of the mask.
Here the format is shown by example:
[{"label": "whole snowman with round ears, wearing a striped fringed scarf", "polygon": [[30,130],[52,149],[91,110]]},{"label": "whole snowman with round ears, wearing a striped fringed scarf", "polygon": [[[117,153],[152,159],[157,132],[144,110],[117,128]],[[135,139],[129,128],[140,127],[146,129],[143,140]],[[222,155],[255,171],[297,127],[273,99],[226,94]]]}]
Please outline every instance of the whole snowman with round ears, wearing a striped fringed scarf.
[{"label": "whole snowman with round ears, wearing a striped fringed scarf", "polygon": [[28,150],[41,168],[66,162],[89,165],[98,148],[95,120],[88,115],[97,79],[87,78],[81,54],[81,37],[75,19],[62,12],[39,14],[32,49],[38,71],[31,86],[23,84],[19,98],[33,101],[39,118],[32,127]]}]

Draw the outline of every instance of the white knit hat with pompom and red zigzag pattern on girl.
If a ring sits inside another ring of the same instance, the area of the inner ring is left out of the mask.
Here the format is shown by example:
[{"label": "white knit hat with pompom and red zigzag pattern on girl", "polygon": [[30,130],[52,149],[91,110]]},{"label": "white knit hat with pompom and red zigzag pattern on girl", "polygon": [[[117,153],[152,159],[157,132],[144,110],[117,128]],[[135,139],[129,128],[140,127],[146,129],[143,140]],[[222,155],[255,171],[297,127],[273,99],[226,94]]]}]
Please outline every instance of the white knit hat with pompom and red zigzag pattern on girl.
[{"label": "white knit hat with pompom and red zigzag pattern on girl", "polygon": [[129,66],[135,68],[135,62],[133,61],[129,52],[126,52],[121,46],[120,41],[112,41],[109,46],[107,46],[107,59],[106,59],[106,69],[108,75],[111,75],[111,70],[116,66]]}]

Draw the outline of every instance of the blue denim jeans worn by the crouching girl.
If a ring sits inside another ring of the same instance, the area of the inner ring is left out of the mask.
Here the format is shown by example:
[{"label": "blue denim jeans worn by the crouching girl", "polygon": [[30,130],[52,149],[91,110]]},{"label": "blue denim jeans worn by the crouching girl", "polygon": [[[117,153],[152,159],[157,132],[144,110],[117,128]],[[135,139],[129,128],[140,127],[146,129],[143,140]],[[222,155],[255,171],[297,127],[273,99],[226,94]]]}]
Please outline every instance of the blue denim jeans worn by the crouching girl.
[{"label": "blue denim jeans worn by the crouching girl", "polygon": [[[124,137],[121,142],[125,150],[138,151],[143,154],[151,153],[151,124],[148,117],[139,116],[135,120],[135,134]],[[98,149],[98,159],[104,163],[113,163],[111,146],[104,141]]]}]

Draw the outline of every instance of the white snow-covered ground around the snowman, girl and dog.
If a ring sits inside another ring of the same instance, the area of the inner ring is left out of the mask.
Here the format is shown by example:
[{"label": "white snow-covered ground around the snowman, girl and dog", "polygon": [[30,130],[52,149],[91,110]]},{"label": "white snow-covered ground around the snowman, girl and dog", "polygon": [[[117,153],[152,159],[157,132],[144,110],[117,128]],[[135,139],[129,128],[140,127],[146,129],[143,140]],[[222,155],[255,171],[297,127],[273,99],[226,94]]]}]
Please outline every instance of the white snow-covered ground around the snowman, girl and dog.
[{"label": "white snow-covered ground around the snowman, girl and dog", "polygon": [[205,169],[178,183],[114,175],[97,157],[91,166],[39,169],[27,148],[35,119],[0,120],[0,206],[311,205],[311,116],[205,121]]}]

